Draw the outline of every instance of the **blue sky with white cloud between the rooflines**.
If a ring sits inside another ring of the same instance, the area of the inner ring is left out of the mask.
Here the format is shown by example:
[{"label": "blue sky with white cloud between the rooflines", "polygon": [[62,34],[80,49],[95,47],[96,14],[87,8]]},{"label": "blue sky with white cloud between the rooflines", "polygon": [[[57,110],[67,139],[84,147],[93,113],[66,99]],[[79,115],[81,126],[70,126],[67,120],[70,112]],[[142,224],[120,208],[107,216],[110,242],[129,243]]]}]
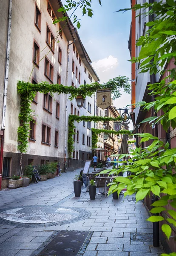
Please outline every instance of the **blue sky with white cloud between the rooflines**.
[{"label": "blue sky with white cloud between the rooflines", "polygon": [[[131,11],[115,12],[130,8],[130,0],[92,0],[91,9],[94,16],[82,17],[80,11],[76,14],[81,19],[78,30],[81,41],[91,58],[100,83],[107,82],[116,76],[127,76],[131,80],[131,63],[128,40],[131,25]],[[62,1],[64,3],[64,1]],[[123,93],[114,100],[117,109],[131,104],[131,95]],[[131,112],[131,111],[129,111]]]}]

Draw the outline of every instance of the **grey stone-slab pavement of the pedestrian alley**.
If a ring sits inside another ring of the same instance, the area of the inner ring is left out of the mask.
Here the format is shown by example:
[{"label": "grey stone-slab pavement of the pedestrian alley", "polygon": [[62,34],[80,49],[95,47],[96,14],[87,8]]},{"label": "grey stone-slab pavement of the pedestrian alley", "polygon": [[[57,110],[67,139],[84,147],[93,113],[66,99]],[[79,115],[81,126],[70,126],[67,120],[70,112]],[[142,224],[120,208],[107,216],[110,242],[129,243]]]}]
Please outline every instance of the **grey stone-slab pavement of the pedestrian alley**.
[{"label": "grey stone-slab pavement of the pedestrian alley", "polygon": [[73,180],[79,172],[77,169],[28,187],[0,191],[0,212],[24,207],[34,211],[44,208],[48,212],[59,208],[77,211],[75,219],[64,222],[63,218],[60,223],[25,224],[0,218],[0,256],[35,255],[35,250],[59,230],[93,233],[82,252],[84,256],[159,256],[164,252],[162,247],[152,246],[152,224],[146,221],[148,212],[142,202],[135,204],[133,195],[119,200],[97,195],[90,200],[82,186],[81,197],[74,197]]}]

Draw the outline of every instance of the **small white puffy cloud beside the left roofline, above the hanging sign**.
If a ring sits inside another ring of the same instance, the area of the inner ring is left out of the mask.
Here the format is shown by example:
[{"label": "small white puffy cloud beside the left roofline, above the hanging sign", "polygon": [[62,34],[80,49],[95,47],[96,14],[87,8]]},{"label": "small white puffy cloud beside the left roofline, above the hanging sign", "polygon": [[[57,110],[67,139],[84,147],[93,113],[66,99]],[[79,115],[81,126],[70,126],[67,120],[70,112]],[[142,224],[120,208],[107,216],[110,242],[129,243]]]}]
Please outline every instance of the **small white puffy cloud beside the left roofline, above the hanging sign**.
[{"label": "small white puffy cloud beside the left roofline, above the hanging sign", "polygon": [[108,58],[92,62],[92,66],[98,74],[114,69],[118,64],[117,58],[112,55],[109,55]]}]

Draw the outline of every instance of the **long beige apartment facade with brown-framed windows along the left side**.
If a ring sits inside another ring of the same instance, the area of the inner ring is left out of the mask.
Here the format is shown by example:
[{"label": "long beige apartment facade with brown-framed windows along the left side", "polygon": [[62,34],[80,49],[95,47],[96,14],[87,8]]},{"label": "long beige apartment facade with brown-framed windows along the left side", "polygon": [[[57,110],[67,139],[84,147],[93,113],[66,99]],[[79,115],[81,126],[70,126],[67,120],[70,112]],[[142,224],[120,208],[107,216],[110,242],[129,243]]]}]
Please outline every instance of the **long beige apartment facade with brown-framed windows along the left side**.
[{"label": "long beige apartment facade with brown-framed windows along the left side", "polygon": [[[4,180],[18,174],[20,169],[20,152],[17,151],[20,95],[17,93],[17,81],[30,81],[34,84],[47,81],[49,84],[76,87],[99,81],[71,21],[53,24],[55,17],[61,15],[57,12],[61,6],[60,0],[6,0],[0,6],[1,145],[4,137],[4,146],[0,150],[4,164],[0,168]],[[9,22],[11,30],[8,30]],[[10,49],[9,55],[6,54],[7,45]],[[4,90],[4,86],[7,90]],[[28,151],[23,154],[23,167],[30,163],[43,164],[46,161],[63,163],[65,152],[68,158],[68,115],[72,111],[71,105],[74,114],[94,115],[94,97],[87,97],[84,108],[79,110],[76,100],[71,102],[68,95],[36,94],[31,103],[34,122],[30,123]],[[4,123],[1,121],[2,116]],[[93,127],[94,123],[91,125]],[[79,166],[91,155],[91,129],[81,123],[77,123],[76,127],[79,134],[75,143],[76,153],[73,155],[76,163],[71,162],[73,166]],[[82,142],[83,132],[86,142],[87,137],[90,137],[88,143]]]}]

